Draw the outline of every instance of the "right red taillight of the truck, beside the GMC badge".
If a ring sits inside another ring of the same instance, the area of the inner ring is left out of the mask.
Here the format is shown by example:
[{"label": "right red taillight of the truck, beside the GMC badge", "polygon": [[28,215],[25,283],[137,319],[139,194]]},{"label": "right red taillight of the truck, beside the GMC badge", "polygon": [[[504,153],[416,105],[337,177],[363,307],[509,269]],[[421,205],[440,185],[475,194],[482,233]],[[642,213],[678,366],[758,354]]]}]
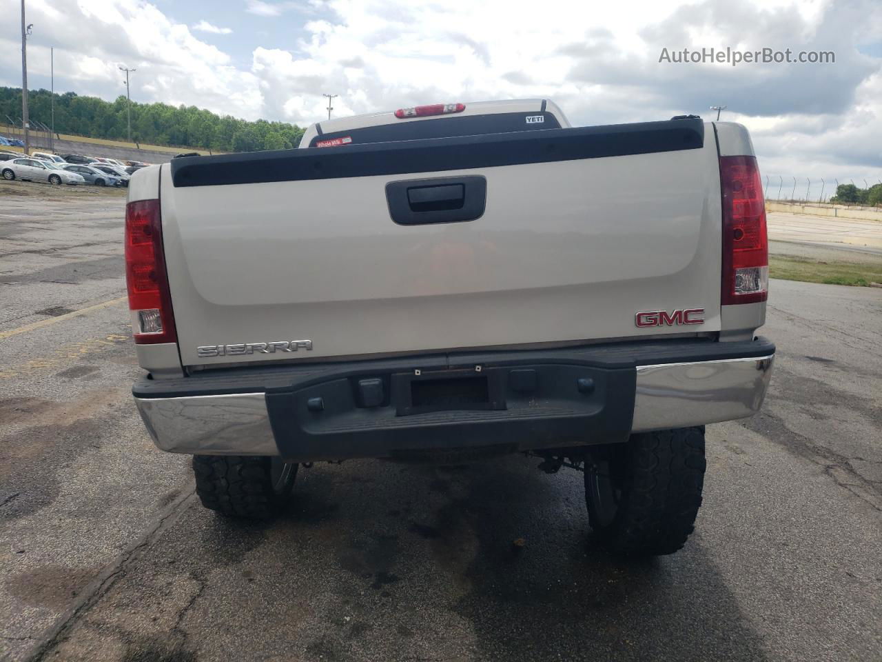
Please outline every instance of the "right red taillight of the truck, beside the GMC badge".
[{"label": "right red taillight of the truck, beside the GMC badge", "polygon": [[721,305],[765,301],[769,285],[766,200],[753,156],[721,156]]}]

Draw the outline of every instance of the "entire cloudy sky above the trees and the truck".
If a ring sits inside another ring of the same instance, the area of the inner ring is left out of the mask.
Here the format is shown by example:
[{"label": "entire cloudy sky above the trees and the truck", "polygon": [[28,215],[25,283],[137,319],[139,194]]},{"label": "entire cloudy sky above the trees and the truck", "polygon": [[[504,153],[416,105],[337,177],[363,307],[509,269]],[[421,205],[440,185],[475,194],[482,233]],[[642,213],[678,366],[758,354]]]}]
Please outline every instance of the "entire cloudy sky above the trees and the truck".
[{"label": "entire cloudy sky above the trees and the truck", "polygon": [[[30,87],[309,124],[428,102],[547,97],[573,124],[724,104],[770,177],[882,177],[878,0],[26,0]],[[0,85],[19,86],[19,0]],[[835,64],[674,64],[662,49],[824,50]],[[802,184],[801,184],[802,185]]]}]

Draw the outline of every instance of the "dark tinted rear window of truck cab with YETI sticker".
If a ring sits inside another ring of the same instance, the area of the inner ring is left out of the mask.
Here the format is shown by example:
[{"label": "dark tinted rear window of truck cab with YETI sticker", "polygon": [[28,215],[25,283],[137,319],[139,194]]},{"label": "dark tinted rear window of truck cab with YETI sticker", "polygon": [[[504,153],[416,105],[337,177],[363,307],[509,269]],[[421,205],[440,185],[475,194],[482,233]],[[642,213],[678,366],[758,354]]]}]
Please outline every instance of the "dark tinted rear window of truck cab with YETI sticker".
[{"label": "dark tinted rear window of truck cab with YETI sticker", "polygon": [[[333,133],[320,133],[310,141],[310,147],[338,147],[340,145],[366,145],[373,142],[395,140],[418,140],[423,138],[452,138],[454,136],[480,136],[485,133],[509,133],[559,129],[557,117],[547,111],[530,113],[496,113],[465,117],[437,117],[417,122],[397,122],[365,126]],[[321,125],[318,125],[321,129]]]}]

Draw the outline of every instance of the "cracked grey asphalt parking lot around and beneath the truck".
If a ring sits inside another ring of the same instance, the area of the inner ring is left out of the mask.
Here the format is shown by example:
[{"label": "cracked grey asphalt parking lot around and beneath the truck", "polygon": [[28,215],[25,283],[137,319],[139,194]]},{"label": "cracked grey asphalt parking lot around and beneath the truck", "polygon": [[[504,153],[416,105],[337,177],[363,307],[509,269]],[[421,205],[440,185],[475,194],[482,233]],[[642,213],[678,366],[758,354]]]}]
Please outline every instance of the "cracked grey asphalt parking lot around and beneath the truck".
[{"label": "cracked grey asphalt parking lot around and beneath the truck", "polygon": [[228,523],[131,405],[123,197],[16,184],[0,191],[3,658],[882,659],[882,290],[773,282],[766,406],[708,427],[705,503],[674,556],[599,553],[579,474],[520,456],[316,465],[279,521]]}]

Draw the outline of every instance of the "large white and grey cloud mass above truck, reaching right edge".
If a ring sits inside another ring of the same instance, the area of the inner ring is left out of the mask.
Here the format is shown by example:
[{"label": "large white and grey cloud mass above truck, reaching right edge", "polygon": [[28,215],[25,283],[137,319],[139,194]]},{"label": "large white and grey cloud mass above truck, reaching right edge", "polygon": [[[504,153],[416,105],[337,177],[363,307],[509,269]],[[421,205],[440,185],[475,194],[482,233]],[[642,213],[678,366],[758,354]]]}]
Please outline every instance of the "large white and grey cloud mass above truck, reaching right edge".
[{"label": "large white and grey cloud mass above truck, reaching right edge", "polygon": [[[540,96],[574,124],[683,113],[747,124],[770,174],[882,175],[882,4],[332,0],[295,49],[254,50],[264,113],[305,124],[428,102]],[[565,17],[565,19],[562,19]],[[662,48],[834,50],[836,64],[660,64]],[[861,176],[863,177],[863,175]]]}]

